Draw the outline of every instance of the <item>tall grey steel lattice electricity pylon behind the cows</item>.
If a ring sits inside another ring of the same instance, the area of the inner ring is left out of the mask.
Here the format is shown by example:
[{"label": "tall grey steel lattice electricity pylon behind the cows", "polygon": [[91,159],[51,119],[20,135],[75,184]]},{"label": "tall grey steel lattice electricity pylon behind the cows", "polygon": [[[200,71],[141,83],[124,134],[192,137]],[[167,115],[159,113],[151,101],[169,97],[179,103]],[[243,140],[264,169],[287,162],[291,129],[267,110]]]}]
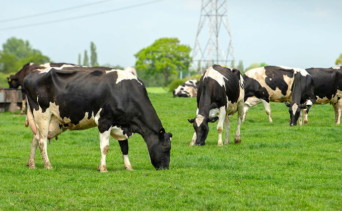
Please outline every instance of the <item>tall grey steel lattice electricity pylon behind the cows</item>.
[{"label": "tall grey steel lattice electricity pylon behind the cows", "polygon": [[[220,34],[222,27],[225,32]],[[226,49],[220,42],[227,46]],[[199,73],[213,63],[230,66],[235,62],[226,0],[202,0],[192,59],[192,65]]]}]

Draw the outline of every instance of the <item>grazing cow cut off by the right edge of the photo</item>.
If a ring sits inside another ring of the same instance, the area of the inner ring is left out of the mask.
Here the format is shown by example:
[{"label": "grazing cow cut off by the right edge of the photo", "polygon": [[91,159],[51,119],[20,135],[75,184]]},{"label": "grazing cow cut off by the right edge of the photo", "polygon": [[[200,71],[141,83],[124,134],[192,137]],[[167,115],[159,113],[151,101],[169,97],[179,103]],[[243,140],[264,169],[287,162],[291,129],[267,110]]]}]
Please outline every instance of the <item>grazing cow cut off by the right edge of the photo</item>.
[{"label": "grazing cow cut off by the right edge of the photo", "polygon": [[[342,109],[342,69],[308,68],[295,74],[292,85],[292,102],[289,107],[290,125],[309,123],[307,114],[313,104],[330,103],[335,112],[335,123],[340,123]],[[304,121],[302,122],[302,116]]]}]

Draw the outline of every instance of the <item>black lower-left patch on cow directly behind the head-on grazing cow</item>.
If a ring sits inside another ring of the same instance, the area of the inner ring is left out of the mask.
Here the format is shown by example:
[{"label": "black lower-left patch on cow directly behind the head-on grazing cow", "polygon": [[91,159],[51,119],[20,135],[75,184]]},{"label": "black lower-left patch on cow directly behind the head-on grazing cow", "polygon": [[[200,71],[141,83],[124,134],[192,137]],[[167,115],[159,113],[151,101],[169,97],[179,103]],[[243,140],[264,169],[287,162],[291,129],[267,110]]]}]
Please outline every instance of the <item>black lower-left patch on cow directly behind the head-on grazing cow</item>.
[{"label": "black lower-left patch on cow directly behind the head-on grazing cow", "polygon": [[269,94],[266,88],[262,87],[258,81],[243,75],[243,80],[245,81],[245,98],[244,101],[249,97],[256,97],[265,100],[269,103]]}]

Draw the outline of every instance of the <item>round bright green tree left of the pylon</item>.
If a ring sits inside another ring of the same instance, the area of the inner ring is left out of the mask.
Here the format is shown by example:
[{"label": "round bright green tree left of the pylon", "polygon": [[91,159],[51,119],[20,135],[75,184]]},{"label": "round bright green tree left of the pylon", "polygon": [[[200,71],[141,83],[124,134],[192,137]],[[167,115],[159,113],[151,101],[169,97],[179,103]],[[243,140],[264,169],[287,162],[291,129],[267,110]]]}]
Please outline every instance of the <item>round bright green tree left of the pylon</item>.
[{"label": "round bright green tree left of the pylon", "polygon": [[166,85],[169,76],[188,70],[191,62],[190,51],[188,45],[179,44],[178,38],[160,38],[134,54],[137,59],[135,67],[145,71],[147,75],[162,73]]}]

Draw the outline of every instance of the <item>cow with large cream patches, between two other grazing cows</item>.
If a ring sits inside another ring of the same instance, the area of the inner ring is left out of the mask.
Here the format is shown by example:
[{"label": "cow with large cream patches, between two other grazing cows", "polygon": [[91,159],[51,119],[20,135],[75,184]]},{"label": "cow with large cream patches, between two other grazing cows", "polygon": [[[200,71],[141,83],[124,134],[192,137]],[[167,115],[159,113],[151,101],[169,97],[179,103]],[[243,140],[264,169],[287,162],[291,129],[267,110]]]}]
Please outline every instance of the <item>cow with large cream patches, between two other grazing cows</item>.
[{"label": "cow with large cream patches, between two other grazing cows", "polygon": [[268,115],[269,122],[273,122],[269,102],[291,101],[291,86],[297,67],[263,66],[250,69],[243,75],[245,81],[245,104],[243,119],[250,106],[262,103]]}]

